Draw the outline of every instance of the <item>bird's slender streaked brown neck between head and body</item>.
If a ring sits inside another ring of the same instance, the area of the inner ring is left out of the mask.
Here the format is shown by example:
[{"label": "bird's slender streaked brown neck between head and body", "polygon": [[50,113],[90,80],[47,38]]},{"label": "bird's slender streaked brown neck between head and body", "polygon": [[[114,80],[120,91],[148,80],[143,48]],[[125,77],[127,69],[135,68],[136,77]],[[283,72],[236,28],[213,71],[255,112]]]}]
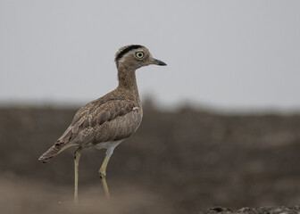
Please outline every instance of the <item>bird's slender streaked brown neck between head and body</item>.
[{"label": "bird's slender streaked brown neck between head and body", "polygon": [[125,93],[129,96],[129,99],[140,103],[137,90],[136,70],[125,70],[124,68],[119,68],[118,79],[118,88],[122,89],[122,91],[125,91]]}]

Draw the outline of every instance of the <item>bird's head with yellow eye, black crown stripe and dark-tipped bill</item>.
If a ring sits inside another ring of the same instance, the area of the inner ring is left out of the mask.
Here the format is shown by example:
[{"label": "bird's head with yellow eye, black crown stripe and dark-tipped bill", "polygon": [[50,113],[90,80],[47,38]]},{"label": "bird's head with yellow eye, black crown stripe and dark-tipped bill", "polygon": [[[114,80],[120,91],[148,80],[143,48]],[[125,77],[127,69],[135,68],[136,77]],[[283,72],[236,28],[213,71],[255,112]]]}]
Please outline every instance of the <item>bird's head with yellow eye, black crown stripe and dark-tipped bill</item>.
[{"label": "bird's head with yellow eye, black crown stripe and dark-tipped bill", "polygon": [[143,45],[127,45],[120,48],[115,54],[118,69],[137,70],[143,66],[156,64],[167,65],[152,57],[149,50]]}]

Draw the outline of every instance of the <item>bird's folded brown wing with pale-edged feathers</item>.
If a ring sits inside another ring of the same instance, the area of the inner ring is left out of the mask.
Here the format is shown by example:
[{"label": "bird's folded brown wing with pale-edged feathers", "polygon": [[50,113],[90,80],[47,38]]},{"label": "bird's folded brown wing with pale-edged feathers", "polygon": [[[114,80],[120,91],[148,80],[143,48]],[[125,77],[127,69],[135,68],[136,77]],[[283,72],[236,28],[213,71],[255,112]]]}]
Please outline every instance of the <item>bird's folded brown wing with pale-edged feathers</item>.
[{"label": "bird's folded brown wing with pale-edged feathers", "polygon": [[62,146],[71,142],[80,143],[83,141],[87,144],[95,138],[93,133],[101,129],[105,122],[109,123],[113,119],[126,116],[130,111],[135,111],[135,107],[137,107],[136,103],[125,99],[108,100],[104,103],[96,100],[87,103],[77,111],[71,125],[63,133],[63,136],[56,141],[55,145]]}]

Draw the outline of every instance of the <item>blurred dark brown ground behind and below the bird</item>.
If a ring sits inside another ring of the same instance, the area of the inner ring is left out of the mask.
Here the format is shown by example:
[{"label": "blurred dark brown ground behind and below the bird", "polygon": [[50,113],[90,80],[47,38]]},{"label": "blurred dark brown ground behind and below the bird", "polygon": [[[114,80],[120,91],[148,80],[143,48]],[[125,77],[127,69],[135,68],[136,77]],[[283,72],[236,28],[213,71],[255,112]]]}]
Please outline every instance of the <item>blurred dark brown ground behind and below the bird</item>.
[{"label": "blurred dark brown ground behind and below the bird", "polygon": [[276,208],[261,213],[281,213],[275,212],[281,206],[293,207],[282,212],[300,211],[299,114],[144,107],[137,133],[116,148],[108,165],[110,202],[98,177],[104,151],[81,153],[79,207],[72,203],[74,151],[46,164],[37,161],[76,110],[0,109],[0,213],[259,213],[239,209],[267,206]]}]

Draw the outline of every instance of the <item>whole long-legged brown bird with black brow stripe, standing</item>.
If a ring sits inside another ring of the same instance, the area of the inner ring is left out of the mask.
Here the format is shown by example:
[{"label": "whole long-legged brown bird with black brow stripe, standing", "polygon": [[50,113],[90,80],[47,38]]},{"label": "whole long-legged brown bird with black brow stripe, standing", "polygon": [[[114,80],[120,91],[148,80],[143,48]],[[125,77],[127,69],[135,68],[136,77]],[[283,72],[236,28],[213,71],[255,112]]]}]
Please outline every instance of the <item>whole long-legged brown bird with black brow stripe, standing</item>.
[{"label": "whole long-legged brown bird with black brow stripe, standing", "polygon": [[79,159],[82,149],[94,147],[106,149],[99,177],[107,199],[110,199],[106,183],[106,168],[112,152],[118,144],[132,136],[143,118],[136,70],[151,64],[166,63],[153,58],[143,45],[126,45],[115,54],[119,85],[108,94],[84,105],[77,111],[71,125],[54,145],[43,153],[38,161],[46,162],[64,150],[75,147],[74,152],[74,202],[79,203]]}]

